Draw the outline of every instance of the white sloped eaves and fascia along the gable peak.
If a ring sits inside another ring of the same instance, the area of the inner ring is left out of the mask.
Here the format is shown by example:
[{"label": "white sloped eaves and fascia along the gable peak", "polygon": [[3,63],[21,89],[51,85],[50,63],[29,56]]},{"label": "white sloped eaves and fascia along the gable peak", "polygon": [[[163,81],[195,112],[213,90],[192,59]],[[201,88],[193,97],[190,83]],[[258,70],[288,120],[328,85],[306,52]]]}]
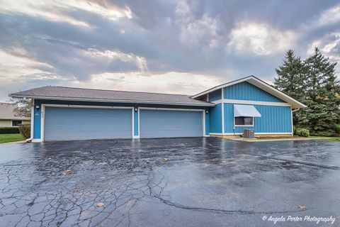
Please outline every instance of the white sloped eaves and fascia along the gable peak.
[{"label": "white sloped eaves and fascia along the gable peak", "polygon": [[305,104],[300,103],[300,101],[293,99],[292,97],[288,96],[287,94],[279,91],[278,89],[272,87],[270,84],[267,84],[266,82],[263,82],[261,79],[254,77],[254,76],[244,77],[244,78],[241,78],[241,79],[234,80],[232,82],[228,82],[228,83],[225,83],[225,84],[218,85],[216,87],[212,87],[211,89],[208,89],[204,92],[200,92],[198,94],[191,96],[191,98],[196,99],[199,96],[203,96],[203,95],[208,94],[210,92],[214,92],[217,89],[221,89],[223,87],[229,87],[229,86],[232,86],[234,84],[239,84],[241,82],[249,82],[250,84],[253,84],[256,87],[263,89],[263,91],[266,91],[269,94],[272,94],[273,96],[276,96],[279,99],[282,99],[283,101],[292,105],[293,109],[307,107]]}]

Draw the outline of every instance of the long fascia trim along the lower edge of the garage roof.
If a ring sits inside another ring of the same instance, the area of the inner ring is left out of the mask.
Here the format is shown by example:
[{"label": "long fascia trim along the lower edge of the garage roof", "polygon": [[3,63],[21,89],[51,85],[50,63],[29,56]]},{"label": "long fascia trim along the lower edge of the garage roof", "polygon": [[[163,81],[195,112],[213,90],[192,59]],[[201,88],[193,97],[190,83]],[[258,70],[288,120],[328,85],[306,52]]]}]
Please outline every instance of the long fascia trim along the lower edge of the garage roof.
[{"label": "long fascia trim along the lower edge of the garage roof", "polygon": [[[11,95],[10,95],[11,96]],[[215,106],[215,104],[191,104],[191,103],[173,103],[162,101],[140,101],[126,99],[84,99],[84,98],[65,98],[65,97],[50,97],[50,96],[11,96],[13,98],[28,98],[28,99],[45,99],[59,101],[94,101],[94,102],[113,102],[113,103],[128,103],[128,104],[159,104],[159,105],[176,105],[176,106]]]}]

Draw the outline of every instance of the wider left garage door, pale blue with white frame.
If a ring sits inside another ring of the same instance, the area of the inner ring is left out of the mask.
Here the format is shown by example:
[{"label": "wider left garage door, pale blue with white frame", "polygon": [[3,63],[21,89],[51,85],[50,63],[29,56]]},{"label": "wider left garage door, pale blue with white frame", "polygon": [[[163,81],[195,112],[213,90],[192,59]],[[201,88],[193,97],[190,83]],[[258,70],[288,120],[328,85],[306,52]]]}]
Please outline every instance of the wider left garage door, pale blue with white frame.
[{"label": "wider left garage door, pale blue with white frame", "polygon": [[131,109],[45,107],[45,140],[132,138]]}]

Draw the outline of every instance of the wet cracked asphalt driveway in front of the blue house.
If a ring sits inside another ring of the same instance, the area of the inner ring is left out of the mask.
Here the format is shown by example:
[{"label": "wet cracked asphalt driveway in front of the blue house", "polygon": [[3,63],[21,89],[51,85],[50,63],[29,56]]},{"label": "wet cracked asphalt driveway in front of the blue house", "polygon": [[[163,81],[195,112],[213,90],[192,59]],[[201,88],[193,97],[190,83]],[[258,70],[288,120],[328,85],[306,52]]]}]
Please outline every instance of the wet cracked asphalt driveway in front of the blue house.
[{"label": "wet cracked asphalt driveway in front of the blue house", "polygon": [[0,226],[340,226],[340,143],[0,145],[0,190]]}]

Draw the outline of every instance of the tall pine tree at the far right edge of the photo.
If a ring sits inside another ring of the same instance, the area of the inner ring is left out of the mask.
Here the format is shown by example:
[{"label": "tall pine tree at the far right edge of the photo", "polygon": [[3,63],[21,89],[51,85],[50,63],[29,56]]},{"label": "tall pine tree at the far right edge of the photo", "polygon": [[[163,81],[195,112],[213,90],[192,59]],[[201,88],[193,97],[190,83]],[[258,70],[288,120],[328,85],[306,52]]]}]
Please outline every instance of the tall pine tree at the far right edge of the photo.
[{"label": "tall pine tree at the far right edge of the photo", "polygon": [[340,118],[340,83],[336,79],[336,62],[329,62],[318,48],[305,60],[306,109],[298,111],[298,125],[310,128],[312,135],[336,135]]}]

